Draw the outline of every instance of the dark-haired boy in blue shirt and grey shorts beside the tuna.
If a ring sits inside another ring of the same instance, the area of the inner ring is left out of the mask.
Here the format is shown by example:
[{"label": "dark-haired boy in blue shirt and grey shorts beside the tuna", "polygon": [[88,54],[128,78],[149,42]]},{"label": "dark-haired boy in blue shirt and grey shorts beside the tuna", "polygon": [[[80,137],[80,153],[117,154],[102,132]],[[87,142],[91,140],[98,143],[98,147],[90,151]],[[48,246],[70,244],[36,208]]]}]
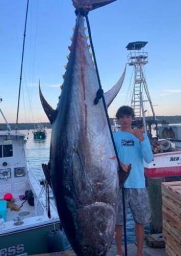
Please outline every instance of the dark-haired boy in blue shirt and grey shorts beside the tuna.
[{"label": "dark-haired boy in blue shirt and grey shorts beside the tuna", "polygon": [[[125,210],[130,206],[135,221],[135,234],[137,241],[137,256],[142,256],[144,225],[150,223],[151,214],[147,189],[145,187],[143,159],[150,163],[153,159],[151,145],[143,129],[132,129],[132,121],[135,117],[134,110],[130,106],[121,106],[116,117],[121,124],[121,129],[113,134],[120,164],[127,172],[128,164],[132,165],[131,173],[124,183]],[[118,215],[116,221],[116,246],[117,255],[122,256],[122,226],[123,205],[122,190],[120,190],[118,202]]]}]

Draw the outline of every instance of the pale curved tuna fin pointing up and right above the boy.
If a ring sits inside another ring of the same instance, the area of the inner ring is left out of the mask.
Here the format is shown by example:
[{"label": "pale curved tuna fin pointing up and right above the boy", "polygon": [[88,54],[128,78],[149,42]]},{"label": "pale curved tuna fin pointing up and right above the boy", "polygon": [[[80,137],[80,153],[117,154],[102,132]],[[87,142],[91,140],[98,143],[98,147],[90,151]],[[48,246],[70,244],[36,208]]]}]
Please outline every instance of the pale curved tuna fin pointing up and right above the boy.
[{"label": "pale curved tuna fin pointing up and right above the boy", "polygon": [[123,81],[124,81],[125,73],[126,73],[126,66],[125,66],[122,76],[119,78],[117,83],[108,92],[106,92],[104,94],[107,107],[110,106],[110,104],[112,103],[112,101],[114,100],[116,95],[118,94],[119,90],[121,89]]}]

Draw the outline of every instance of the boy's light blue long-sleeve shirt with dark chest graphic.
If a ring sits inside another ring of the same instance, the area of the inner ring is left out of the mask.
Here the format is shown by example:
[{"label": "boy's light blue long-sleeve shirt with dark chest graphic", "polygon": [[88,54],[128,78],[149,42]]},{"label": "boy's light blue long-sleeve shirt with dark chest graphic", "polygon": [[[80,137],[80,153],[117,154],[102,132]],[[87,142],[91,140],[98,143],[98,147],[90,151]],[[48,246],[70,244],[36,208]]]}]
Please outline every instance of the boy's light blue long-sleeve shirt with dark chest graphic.
[{"label": "boy's light blue long-sleeve shirt with dark chest graphic", "polygon": [[118,156],[123,164],[132,164],[130,175],[124,183],[125,188],[144,188],[144,166],[153,159],[151,145],[148,136],[144,133],[144,140],[139,141],[132,133],[118,131],[113,133]]}]

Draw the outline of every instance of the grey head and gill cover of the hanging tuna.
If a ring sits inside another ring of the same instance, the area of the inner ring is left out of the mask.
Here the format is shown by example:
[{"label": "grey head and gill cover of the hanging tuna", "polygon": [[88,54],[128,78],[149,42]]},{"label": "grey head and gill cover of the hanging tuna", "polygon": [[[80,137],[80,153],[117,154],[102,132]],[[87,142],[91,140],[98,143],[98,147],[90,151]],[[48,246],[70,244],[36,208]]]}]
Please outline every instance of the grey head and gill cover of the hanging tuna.
[{"label": "grey head and gill cover of the hanging tuna", "polygon": [[75,210],[77,240],[80,242],[78,255],[106,255],[112,242],[116,213],[106,203],[95,202]]}]

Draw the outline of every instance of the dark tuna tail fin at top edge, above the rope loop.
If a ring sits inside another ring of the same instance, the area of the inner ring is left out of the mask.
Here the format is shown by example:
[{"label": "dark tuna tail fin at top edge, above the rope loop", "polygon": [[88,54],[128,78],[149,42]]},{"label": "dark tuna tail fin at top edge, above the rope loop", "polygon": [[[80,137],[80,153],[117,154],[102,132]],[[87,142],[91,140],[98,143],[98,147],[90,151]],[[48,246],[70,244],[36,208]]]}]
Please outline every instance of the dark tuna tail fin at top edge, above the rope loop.
[{"label": "dark tuna tail fin at top edge, above the rope loop", "polygon": [[87,11],[94,10],[104,5],[111,4],[117,0],[72,0],[75,8],[86,9]]}]

